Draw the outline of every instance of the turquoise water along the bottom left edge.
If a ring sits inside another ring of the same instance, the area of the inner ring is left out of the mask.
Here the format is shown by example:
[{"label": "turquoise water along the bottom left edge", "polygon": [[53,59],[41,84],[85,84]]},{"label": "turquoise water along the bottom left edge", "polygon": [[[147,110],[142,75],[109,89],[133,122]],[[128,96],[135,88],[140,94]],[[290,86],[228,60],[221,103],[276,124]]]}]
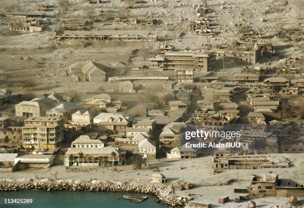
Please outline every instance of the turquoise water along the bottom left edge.
[{"label": "turquoise water along the bottom left edge", "polygon": [[[123,195],[148,196],[141,203],[119,199]],[[0,198],[33,199],[32,205],[0,205],[1,208],[165,208],[157,203],[152,195],[120,193],[120,192],[89,192],[89,191],[0,191]]]}]

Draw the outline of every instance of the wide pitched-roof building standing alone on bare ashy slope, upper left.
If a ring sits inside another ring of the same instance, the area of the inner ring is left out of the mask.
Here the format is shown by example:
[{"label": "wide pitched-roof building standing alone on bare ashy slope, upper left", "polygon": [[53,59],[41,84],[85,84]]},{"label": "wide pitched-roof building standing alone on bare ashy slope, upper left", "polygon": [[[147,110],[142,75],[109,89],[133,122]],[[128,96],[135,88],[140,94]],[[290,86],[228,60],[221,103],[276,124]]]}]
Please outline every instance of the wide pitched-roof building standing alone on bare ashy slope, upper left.
[{"label": "wide pitched-roof building standing alone on bare ashy slope, upper left", "polygon": [[107,70],[112,67],[107,63],[77,62],[70,66],[70,73],[74,81],[101,82],[106,80]]}]

